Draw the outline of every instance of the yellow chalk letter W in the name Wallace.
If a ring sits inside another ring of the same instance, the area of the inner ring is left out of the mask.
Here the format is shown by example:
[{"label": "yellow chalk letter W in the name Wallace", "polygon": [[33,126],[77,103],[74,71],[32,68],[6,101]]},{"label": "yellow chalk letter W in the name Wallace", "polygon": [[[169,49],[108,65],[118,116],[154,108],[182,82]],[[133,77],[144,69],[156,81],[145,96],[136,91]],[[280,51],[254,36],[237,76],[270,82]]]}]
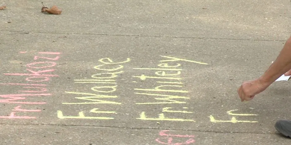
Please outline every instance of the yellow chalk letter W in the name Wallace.
[{"label": "yellow chalk letter W in the name Wallace", "polygon": [[99,99],[92,99],[92,98],[117,98],[118,96],[108,96],[108,95],[99,95],[99,94],[90,94],[90,93],[81,93],[81,92],[66,92],[69,94],[83,94],[83,95],[90,95],[86,97],[75,97],[76,99],[82,100],[90,100],[94,102],[82,102],[82,103],[62,103],[62,104],[121,104],[118,102],[113,101],[104,101]]}]

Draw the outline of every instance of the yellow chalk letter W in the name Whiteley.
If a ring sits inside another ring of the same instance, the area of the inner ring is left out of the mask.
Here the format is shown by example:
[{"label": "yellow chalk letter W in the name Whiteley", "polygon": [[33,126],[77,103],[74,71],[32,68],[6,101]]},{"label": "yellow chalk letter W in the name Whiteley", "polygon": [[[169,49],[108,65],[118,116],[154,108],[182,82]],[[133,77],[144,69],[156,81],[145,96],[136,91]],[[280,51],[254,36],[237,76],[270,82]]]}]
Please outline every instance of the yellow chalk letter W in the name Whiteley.
[{"label": "yellow chalk letter W in the name Whiteley", "polygon": [[181,104],[181,103],[186,103],[186,102],[181,102],[181,101],[177,101],[177,100],[173,100],[173,99],[190,99],[189,97],[164,95],[164,94],[149,94],[149,93],[135,93],[135,94],[144,94],[144,95],[151,95],[151,96],[163,96],[164,98],[155,98],[155,99],[169,101],[169,102],[152,102],[152,103],[135,103],[135,104]]}]

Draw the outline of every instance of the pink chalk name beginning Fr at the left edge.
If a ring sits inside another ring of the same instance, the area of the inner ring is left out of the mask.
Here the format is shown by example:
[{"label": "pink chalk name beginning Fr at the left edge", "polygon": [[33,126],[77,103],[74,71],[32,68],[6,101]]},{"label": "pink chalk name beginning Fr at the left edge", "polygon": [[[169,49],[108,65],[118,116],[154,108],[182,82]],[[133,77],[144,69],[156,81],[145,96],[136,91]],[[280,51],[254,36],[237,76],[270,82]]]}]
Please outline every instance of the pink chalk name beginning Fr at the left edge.
[{"label": "pink chalk name beginning Fr at the left edge", "polygon": [[[25,52],[26,53],[26,52]],[[51,60],[58,60],[60,58],[59,54],[60,52],[39,52],[38,54],[43,55],[37,55],[34,56],[34,60],[39,60],[39,62],[34,62],[27,64],[27,71],[30,73],[4,73],[6,76],[27,76],[25,78],[25,81],[33,82],[33,84],[29,83],[0,83],[0,85],[4,86],[20,86],[21,90],[18,90],[18,92],[25,92],[30,94],[2,94],[0,95],[0,103],[13,103],[13,104],[22,104],[22,105],[42,105],[46,104],[46,102],[34,102],[29,101],[33,100],[32,97],[26,98],[28,96],[34,96],[34,97],[45,97],[52,95],[50,93],[46,93],[48,91],[45,86],[46,84],[37,84],[36,82],[46,82],[50,81],[51,77],[58,77],[58,75],[55,74],[48,74],[49,72],[54,72],[55,69],[47,69],[52,68],[56,66],[56,62],[53,62]],[[34,69],[45,69],[45,70],[34,70]],[[12,109],[13,112],[10,113],[9,116],[0,116],[0,118],[7,118],[7,119],[36,119],[37,117],[32,116],[16,116],[17,114],[20,114],[21,112],[41,112],[40,109],[29,109],[33,106],[22,106],[18,105],[14,109]]]}]

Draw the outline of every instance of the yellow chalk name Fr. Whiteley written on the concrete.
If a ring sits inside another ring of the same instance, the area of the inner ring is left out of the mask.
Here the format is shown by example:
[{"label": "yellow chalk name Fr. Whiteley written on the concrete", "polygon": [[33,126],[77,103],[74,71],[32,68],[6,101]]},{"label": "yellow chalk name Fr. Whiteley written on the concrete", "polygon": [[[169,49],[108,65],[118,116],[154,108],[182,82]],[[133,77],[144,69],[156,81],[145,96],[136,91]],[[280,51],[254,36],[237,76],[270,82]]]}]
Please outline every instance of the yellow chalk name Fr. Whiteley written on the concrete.
[{"label": "yellow chalk name Fr. Whiteley written on the concrete", "polygon": [[[181,80],[183,69],[180,68],[181,64],[177,62],[192,62],[196,64],[206,64],[202,62],[187,60],[187,59],[179,59],[175,57],[169,56],[161,56],[163,58],[168,58],[167,60],[160,60],[159,62],[163,62],[161,64],[157,64],[157,67],[153,68],[133,68],[136,70],[148,70],[148,72],[152,72],[153,74],[142,74],[140,76],[133,76],[134,78],[139,78],[142,81],[150,80],[151,82],[156,81],[156,85],[152,88],[134,88],[134,94],[139,94],[139,97],[145,97],[146,102],[138,102],[135,104],[186,104],[190,97],[187,97],[186,94],[189,93],[188,90],[183,89],[183,82]],[[165,63],[167,62],[167,63]],[[207,64],[206,64],[207,65]],[[143,72],[145,73],[145,72]],[[153,96],[149,98],[148,96]],[[152,101],[152,100],[155,101]],[[158,117],[147,117],[146,112],[141,112],[139,115],[140,120],[153,120],[153,121],[191,121],[196,122],[192,119],[185,118],[175,118],[175,117],[165,117],[165,116],[173,116],[174,113],[193,113],[187,110],[187,107],[183,107],[183,109],[173,109],[172,107],[162,108],[161,113],[157,114]],[[168,143],[171,141],[169,140]]]}]

